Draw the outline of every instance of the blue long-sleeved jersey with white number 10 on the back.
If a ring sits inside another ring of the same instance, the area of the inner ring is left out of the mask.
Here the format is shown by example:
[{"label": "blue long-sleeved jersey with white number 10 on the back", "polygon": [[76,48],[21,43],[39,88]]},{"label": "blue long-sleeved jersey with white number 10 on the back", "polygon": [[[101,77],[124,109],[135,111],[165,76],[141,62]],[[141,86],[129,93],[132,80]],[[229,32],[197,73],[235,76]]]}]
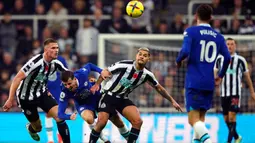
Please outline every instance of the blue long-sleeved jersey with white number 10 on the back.
[{"label": "blue long-sleeved jersey with white number 10 on the back", "polygon": [[219,72],[223,77],[231,58],[224,37],[209,24],[185,30],[182,49],[176,59],[180,63],[188,58],[185,88],[214,90],[213,67],[219,53],[226,59]]}]

